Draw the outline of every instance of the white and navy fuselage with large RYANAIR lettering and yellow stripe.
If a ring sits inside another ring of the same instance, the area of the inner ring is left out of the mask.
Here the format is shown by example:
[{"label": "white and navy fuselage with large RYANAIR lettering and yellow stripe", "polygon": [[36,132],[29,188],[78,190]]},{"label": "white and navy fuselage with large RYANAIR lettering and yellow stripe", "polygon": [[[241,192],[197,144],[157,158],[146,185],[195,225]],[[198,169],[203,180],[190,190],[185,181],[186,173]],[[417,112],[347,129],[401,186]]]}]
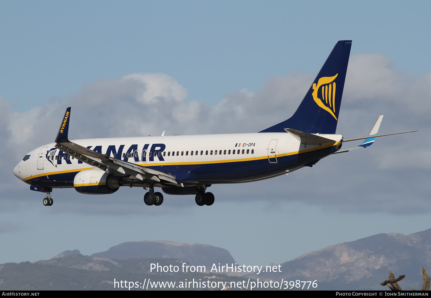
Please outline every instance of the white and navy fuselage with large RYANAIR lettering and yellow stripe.
[{"label": "white and navy fuselage with large RYANAIR lettering and yellow stripe", "polygon": [[[275,177],[339,149],[335,146],[341,135],[320,136],[334,143],[304,145],[287,132],[93,138],[73,142],[110,157],[175,175],[178,183],[199,185]],[[54,146],[55,143],[46,144],[29,152],[30,157],[19,162],[14,174],[34,186],[73,187],[73,177],[78,172],[94,168]],[[126,185],[141,186],[142,183],[130,178]]]}]

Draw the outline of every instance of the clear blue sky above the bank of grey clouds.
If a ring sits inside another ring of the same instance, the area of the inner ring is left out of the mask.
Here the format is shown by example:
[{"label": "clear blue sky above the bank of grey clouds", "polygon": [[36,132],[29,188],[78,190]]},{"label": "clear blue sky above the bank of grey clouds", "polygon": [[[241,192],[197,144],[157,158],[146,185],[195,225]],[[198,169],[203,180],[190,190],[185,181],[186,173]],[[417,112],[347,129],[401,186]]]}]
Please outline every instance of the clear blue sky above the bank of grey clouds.
[{"label": "clear blue sky above the bank of grey clouds", "polygon": [[23,111],[82,84],[169,74],[218,103],[271,76],[315,72],[335,41],[428,72],[427,1],[3,1],[2,95]]}]

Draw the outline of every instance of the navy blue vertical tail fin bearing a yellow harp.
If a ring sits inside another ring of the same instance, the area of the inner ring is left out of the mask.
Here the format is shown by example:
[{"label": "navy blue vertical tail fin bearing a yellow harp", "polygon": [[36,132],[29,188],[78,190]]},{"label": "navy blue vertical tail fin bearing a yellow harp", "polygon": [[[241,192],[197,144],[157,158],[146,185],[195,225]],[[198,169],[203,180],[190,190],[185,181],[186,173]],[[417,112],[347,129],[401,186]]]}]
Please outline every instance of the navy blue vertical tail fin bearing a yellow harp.
[{"label": "navy blue vertical tail fin bearing a yellow harp", "polygon": [[334,134],[351,46],[351,40],[338,41],[295,114],[260,132],[286,132],[285,128],[293,128],[308,133]]}]

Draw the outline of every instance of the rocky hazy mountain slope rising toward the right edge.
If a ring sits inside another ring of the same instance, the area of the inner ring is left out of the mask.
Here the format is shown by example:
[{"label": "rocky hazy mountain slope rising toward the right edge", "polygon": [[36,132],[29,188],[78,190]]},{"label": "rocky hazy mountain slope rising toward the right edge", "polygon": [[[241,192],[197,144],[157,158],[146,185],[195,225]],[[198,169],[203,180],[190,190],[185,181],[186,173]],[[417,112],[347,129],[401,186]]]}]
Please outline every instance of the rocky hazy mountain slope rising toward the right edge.
[{"label": "rocky hazy mountain slope rising toward the right edge", "polygon": [[379,233],[307,252],[281,263],[283,271],[265,275],[265,280],[318,280],[324,289],[382,289],[379,283],[392,271],[406,275],[402,285],[417,289],[422,288],[420,268],[430,264],[431,229]]}]

